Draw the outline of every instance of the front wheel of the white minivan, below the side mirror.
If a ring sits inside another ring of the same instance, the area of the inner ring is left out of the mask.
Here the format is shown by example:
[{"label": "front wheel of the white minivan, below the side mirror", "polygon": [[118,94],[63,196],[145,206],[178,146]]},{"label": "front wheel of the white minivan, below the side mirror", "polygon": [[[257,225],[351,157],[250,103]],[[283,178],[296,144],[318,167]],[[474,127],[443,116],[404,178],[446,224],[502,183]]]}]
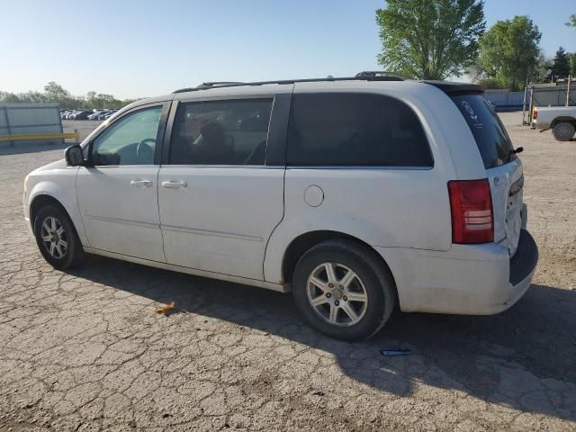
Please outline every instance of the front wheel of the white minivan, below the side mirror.
[{"label": "front wheel of the white minivan, below the side mirror", "polygon": [[48,204],[38,211],[34,237],[42,257],[58,270],[76,266],[85,257],[72,221],[58,206]]}]

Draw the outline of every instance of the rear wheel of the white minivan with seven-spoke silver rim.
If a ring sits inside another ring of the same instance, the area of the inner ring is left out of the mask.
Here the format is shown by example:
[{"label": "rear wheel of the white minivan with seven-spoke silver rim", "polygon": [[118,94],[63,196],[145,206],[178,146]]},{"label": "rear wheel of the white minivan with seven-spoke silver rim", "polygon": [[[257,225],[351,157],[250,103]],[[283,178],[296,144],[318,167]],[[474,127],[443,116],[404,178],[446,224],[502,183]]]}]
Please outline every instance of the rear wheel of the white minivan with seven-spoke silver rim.
[{"label": "rear wheel of the white minivan with seven-spoke silver rim", "polygon": [[334,239],[300,258],[293,274],[293,296],[314,329],[352,341],[370,338],[383,328],[396,304],[396,287],[373,250],[352,240]]}]

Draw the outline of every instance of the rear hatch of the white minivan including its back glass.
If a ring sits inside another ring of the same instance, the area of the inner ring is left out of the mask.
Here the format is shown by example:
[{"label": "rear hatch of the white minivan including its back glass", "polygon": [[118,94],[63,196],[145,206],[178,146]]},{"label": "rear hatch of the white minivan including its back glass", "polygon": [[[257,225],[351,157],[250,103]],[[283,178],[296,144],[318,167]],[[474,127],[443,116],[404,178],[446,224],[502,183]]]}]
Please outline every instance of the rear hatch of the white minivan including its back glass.
[{"label": "rear hatch of the white minivan including its back glass", "polygon": [[516,254],[522,227],[524,175],[512,141],[498,114],[482,94],[452,94],[480,150],[490,182],[494,212],[494,241]]}]

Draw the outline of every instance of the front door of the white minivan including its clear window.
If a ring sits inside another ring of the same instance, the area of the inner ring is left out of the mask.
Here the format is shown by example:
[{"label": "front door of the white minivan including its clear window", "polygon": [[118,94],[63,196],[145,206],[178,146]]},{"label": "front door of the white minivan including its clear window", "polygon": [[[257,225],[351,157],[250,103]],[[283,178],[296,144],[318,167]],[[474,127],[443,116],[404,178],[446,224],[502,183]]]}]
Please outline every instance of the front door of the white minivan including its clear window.
[{"label": "front door of the white minivan including its clear window", "polygon": [[92,141],[91,166],[80,167],[76,177],[91,247],[165,261],[157,206],[159,159],[155,162],[162,112],[162,104],[128,112]]}]

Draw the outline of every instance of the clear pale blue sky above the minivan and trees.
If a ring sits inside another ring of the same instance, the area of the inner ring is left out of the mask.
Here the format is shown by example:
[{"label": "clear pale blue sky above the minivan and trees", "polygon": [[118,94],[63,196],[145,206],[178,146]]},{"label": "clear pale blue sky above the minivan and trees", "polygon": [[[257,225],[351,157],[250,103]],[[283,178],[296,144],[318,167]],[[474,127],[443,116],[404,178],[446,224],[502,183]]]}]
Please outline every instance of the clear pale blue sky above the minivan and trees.
[{"label": "clear pale blue sky above the minivan and trees", "polygon": [[[202,81],[351,76],[379,69],[383,0],[0,0],[0,90],[121,98]],[[546,5],[548,7],[546,7]],[[576,51],[575,0],[486,0],[488,26],[528,14],[541,47]]]}]

